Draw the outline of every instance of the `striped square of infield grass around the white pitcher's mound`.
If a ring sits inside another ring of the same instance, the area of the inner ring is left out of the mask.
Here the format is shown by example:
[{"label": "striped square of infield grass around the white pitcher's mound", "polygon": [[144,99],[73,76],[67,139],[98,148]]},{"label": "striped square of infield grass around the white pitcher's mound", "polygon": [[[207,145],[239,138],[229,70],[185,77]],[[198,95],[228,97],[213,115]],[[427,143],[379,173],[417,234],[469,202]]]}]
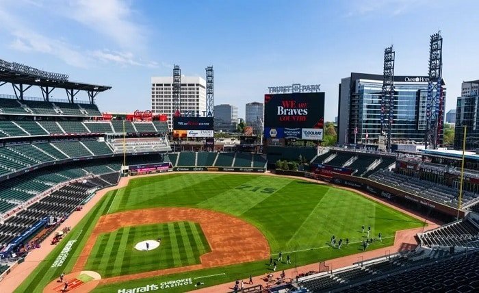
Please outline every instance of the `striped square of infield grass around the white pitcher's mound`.
[{"label": "striped square of infield grass around the white pitcher's mound", "polygon": [[[157,249],[135,249],[138,242],[160,237],[161,245]],[[209,251],[203,231],[195,222],[122,227],[99,235],[88,257],[86,270],[99,272],[102,277],[113,277],[190,266],[200,264],[200,255]]]}]

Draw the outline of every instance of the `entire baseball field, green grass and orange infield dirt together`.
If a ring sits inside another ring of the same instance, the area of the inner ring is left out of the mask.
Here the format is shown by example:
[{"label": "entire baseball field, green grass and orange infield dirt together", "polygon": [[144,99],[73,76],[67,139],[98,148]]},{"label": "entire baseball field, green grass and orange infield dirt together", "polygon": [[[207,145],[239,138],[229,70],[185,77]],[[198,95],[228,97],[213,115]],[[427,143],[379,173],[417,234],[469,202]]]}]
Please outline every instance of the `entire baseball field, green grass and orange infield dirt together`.
[{"label": "entire baseball field, green grass and orange infield dirt together", "polygon": [[[382,234],[368,248],[378,249],[393,244],[396,231],[423,224],[355,192],[300,179],[140,177],[105,194],[16,292],[42,292],[62,272],[80,271],[101,275],[93,292],[185,292],[197,281],[265,274],[280,252],[277,270],[359,253],[362,225],[371,226],[370,238]],[[349,244],[331,246],[332,235]]]}]

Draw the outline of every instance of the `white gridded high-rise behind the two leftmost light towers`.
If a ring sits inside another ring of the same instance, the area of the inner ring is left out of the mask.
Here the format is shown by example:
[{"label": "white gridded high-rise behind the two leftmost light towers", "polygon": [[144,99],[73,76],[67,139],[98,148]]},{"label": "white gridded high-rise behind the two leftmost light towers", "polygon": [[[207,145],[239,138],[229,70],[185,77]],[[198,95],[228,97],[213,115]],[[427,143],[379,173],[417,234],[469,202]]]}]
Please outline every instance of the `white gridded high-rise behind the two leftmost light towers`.
[{"label": "white gridded high-rise behind the two leftmost light towers", "polygon": [[[206,116],[206,81],[201,77],[181,77],[180,110],[184,116]],[[151,111],[166,114],[173,127],[173,77],[151,77]]]}]

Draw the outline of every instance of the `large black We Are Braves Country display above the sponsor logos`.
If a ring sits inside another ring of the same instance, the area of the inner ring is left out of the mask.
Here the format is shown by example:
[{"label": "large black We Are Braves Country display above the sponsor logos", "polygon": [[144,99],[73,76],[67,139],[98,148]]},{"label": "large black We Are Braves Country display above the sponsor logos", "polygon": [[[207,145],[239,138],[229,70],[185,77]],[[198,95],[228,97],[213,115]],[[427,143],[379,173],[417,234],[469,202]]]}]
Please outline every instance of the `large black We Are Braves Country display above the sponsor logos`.
[{"label": "large black We Are Braves Country display above the sponsor logos", "polygon": [[265,94],[265,127],[323,128],[324,92]]}]

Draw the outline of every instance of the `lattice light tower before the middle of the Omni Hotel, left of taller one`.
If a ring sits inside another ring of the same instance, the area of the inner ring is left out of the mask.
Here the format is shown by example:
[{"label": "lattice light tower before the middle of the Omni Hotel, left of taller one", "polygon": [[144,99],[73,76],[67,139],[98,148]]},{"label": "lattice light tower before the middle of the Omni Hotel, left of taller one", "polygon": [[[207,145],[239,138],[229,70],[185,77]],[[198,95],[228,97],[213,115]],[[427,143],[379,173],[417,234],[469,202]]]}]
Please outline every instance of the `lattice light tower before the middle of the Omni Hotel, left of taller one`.
[{"label": "lattice light tower before the middle of the Omni Hotel, left of taller one", "polygon": [[[381,89],[381,134],[386,136],[387,151],[391,151],[391,127],[394,114],[394,57],[395,52],[391,45],[384,50],[383,88]],[[388,112],[387,123],[386,112]]]}]

